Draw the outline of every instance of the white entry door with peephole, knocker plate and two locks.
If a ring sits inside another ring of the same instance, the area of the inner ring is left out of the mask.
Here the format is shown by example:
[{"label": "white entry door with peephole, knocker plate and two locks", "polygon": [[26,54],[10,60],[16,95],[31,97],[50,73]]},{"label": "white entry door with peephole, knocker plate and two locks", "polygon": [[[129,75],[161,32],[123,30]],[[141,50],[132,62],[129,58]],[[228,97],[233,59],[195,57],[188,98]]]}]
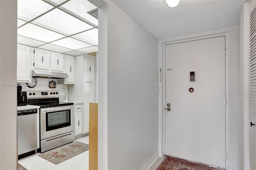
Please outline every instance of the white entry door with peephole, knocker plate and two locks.
[{"label": "white entry door with peephole, knocker plate and two locks", "polygon": [[225,56],[225,36],[165,45],[166,155],[225,168]]}]

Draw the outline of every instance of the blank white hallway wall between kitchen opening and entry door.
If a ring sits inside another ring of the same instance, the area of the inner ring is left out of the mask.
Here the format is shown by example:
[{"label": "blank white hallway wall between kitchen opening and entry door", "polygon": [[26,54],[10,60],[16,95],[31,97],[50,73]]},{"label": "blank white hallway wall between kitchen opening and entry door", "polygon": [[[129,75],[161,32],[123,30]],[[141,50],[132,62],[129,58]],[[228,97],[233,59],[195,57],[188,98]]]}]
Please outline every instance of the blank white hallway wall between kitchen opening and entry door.
[{"label": "blank white hallway wall between kitchen opening and entry door", "polygon": [[158,156],[158,40],[111,1],[106,3],[106,29],[100,30],[99,23],[99,37],[107,35],[107,45],[99,42],[98,102],[100,117],[107,96],[107,166],[110,170],[148,168]]}]

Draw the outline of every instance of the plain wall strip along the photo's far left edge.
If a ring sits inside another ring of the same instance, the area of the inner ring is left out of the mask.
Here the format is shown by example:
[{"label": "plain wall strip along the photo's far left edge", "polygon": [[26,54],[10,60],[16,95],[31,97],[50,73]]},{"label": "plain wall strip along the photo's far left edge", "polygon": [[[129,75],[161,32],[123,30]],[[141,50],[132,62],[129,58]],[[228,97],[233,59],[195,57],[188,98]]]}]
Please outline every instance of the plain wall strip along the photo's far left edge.
[{"label": "plain wall strip along the photo's far left edge", "polygon": [[[16,83],[17,1],[0,0],[0,84]],[[17,88],[0,86],[0,169],[17,167]]]}]

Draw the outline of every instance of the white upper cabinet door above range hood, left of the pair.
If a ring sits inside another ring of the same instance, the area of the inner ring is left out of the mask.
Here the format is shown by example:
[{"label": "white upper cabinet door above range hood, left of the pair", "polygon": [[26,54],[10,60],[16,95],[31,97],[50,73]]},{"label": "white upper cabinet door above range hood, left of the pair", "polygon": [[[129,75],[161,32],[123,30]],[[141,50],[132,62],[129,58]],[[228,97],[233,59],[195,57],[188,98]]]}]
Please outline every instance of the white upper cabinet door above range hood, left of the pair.
[{"label": "white upper cabinet door above range hood, left of the pair", "polygon": [[35,48],[34,69],[50,69],[50,51]]}]

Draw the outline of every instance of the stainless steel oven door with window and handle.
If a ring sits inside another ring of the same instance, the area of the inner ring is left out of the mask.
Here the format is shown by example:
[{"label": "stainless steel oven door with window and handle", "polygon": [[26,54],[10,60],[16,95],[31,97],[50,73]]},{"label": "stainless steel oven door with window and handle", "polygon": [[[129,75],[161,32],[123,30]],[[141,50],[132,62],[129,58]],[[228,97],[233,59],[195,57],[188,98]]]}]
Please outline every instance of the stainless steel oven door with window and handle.
[{"label": "stainless steel oven door with window and handle", "polygon": [[40,110],[40,140],[74,131],[74,106]]}]

